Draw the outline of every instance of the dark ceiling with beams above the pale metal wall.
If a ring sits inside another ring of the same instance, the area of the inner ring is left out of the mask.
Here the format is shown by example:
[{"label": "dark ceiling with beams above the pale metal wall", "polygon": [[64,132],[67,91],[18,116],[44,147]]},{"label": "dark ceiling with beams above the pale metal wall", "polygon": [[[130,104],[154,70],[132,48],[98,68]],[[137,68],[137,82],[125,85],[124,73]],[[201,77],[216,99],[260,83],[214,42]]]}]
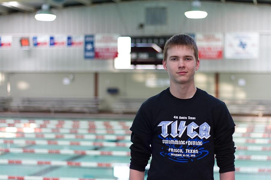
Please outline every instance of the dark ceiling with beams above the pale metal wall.
[{"label": "dark ceiling with beams above the pale metal wall", "polygon": [[[0,15],[7,15],[14,12],[36,12],[44,3],[50,4],[52,8],[62,9],[70,6],[86,5],[103,3],[120,3],[132,0],[0,0]],[[141,0],[147,1],[147,0]],[[213,0],[221,3],[227,2],[242,2],[250,4],[271,4],[271,0]]]}]

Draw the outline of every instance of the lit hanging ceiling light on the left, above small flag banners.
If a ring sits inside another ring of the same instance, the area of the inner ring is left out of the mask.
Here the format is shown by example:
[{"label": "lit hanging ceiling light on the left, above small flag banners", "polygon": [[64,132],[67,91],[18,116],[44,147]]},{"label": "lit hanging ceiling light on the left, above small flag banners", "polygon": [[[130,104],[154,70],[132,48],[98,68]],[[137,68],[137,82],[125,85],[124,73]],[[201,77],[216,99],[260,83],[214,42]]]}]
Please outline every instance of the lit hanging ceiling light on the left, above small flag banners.
[{"label": "lit hanging ceiling light on the left, above small flag banners", "polygon": [[53,21],[56,15],[50,11],[49,4],[42,4],[42,8],[35,15],[38,21]]}]

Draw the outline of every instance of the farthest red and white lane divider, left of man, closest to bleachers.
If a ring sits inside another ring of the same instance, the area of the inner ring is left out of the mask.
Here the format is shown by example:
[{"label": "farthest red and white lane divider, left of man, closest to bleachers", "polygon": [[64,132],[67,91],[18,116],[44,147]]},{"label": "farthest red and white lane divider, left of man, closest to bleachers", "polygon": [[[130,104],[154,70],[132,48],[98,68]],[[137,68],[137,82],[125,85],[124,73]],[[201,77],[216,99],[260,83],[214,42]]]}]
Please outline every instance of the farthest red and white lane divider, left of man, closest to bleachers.
[{"label": "farthest red and white lane divider, left of man, closest to bleachers", "polygon": [[95,120],[43,120],[43,119],[0,119],[0,123],[35,123],[35,124],[82,124],[82,125],[106,125],[106,126],[114,126],[114,125],[122,125],[122,126],[131,126],[132,121],[95,121]]}]

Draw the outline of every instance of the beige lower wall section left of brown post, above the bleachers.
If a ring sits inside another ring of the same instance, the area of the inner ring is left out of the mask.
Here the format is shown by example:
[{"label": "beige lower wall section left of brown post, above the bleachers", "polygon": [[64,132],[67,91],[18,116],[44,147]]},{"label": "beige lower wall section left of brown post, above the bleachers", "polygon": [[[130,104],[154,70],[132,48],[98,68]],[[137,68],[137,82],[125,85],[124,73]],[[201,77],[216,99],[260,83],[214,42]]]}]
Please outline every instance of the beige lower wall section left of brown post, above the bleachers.
[{"label": "beige lower wall section left of brown post, above the bleachers", "polygon": [[[70,85],[62,83],[69,73],[16,73],[10,74],[11,96],[30,97],[94,97],[95,84],[93,73],[74,73]],[[7,89],[7,83],[1,84],[0,89]],[[23,84],[23,86],[22,86]],[[4,86],[2,88],[2,86]],[[5,90],[5,93],[7,94]]]}]

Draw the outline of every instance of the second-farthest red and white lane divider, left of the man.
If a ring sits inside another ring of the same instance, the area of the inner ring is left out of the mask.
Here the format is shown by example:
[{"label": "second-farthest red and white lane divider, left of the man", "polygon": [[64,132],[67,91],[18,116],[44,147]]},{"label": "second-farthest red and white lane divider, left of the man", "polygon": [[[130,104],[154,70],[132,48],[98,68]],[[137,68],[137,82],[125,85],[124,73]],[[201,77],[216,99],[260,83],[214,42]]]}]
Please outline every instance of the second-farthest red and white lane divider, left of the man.
[{"label": "second-farthest red and white lane divider, left of the man", "polygon": [[83,124],[35,124],[35,123],[0,123],[0,127],[16,128],[66,128],[66,129],[129,129],[126,125],[83,125]]}]

